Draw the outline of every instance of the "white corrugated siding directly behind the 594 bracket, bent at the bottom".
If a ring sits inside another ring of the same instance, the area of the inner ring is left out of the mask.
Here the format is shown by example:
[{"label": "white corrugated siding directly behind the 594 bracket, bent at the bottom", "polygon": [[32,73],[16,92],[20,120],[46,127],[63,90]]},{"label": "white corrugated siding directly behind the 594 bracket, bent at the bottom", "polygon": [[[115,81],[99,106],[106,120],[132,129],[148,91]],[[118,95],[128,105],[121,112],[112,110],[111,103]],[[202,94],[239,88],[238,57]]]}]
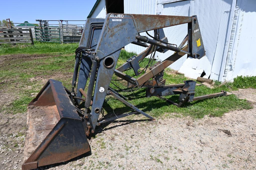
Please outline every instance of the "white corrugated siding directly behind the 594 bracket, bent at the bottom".
[{"label": "white corrugated siding directly behind the 594 bracket, bent at the bottom", "polygon": [[198,17],[206,56],[200,60],[188,58],[180,68],[180,72],[191,78],[197,78],[202,71],[205,71],[206,78],[210,76],[218,80],[227,41],[232,2],[233,0],[190,1],[190,16]]}]

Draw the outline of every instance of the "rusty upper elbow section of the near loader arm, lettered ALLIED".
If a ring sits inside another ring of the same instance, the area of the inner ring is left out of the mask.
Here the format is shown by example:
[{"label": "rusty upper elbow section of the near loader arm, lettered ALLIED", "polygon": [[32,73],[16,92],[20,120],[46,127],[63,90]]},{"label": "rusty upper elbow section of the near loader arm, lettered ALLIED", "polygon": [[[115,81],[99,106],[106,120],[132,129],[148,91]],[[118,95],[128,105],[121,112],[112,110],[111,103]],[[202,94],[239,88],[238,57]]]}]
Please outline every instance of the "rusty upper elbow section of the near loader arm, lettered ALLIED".
[{"label": "rusty upper elbow section of the near loader arm, lettered ALLIED", "polygon": [[95,49],[99,59],[136,40],[141,32],[189,23],[193,17],[139,14],[108,14]]}]

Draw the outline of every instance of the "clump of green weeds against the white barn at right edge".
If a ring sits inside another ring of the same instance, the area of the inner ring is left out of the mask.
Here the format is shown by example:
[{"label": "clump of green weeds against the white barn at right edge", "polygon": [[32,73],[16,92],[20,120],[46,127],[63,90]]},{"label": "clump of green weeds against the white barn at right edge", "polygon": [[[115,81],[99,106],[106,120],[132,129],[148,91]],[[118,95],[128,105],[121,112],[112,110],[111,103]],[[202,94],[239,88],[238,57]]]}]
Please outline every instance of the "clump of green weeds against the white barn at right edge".
[{"label": "clump of green weeds against the white barn at right edge", "polygon": [[233,86],[239,89],[256,89],[256,76],[238,76],[237,78],[234,78]]}]

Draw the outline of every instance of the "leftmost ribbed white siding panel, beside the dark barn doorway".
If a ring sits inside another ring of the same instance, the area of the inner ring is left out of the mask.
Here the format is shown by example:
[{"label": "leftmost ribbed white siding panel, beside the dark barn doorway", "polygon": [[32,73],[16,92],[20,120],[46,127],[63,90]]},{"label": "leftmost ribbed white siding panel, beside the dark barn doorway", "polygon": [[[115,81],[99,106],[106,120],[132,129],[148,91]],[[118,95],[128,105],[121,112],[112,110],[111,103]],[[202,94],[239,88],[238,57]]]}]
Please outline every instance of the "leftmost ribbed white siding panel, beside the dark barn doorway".
[{"label": "leftmost ribbed white siding panel, beside the dark barn doorway", "polygon": [[[124,0],[124,13],[156,15],[156,0]],[[153,31],[149,31],[149,33],[154,35]],[[140,35],[146,36],[146,33],[140,33]],[[126,45],[124,48],[137,54],[146,49],[134,44]]]}]

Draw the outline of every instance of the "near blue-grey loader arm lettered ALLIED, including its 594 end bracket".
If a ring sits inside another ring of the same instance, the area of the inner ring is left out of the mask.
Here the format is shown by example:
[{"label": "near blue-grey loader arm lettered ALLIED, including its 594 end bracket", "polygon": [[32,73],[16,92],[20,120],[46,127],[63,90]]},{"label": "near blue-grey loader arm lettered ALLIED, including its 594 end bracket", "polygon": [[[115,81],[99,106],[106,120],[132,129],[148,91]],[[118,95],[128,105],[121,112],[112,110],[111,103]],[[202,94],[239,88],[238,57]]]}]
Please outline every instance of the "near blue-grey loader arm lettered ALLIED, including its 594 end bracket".
[{"label": "near blue-grey loader arm lettered ALLIED, including its 594 end bracket", "polygon": [[[183,17],[138,14],[108,14],[106,16],[93,58],[98,65],[95,70],[91,70],[91,75],[93,75],[94,71],[97,71],[93,104],[90,113],[92,122],[91,126],[93,130],[97,125],[99,113],[101,112],[105,96],[108,92],[108,87],[110,85],[121,48],[135,40],[144,41],[143,38],[145,37],[139,35],[141,32],[184,23],[188,23],[188,37],[189,42],[191,41],[191,43],[189,43],[189,51],[187,53],[189,56],[195,58],[203,57],[205,55],[205,51],[196,16]],[[192,33],[193,29],[197,30],[197,34]],[[145,39],[145,42],[147,42],[148,38]],[[200,46],[196,45],[196,41],[193,40],[199,40],[201,42]],[[151,43],[156,45],[159,42],[152,40]],[[166,47],[166,44],[163,43],[161,47]],[[181,49],[169,45],[169,50],[180,52]],[[152,76],[150,78],[152,78]],[[90,82],[91,81],[94,83],[95,80],[90,79]],[[93,86],[89,86],[88,91],[93,91]],[[92,95],[87,95],[85,105],[87,109],[85,114],[88,114],[87,111],[90,106],[88,103],[89,100],[91,100],[91,97]]]}]

